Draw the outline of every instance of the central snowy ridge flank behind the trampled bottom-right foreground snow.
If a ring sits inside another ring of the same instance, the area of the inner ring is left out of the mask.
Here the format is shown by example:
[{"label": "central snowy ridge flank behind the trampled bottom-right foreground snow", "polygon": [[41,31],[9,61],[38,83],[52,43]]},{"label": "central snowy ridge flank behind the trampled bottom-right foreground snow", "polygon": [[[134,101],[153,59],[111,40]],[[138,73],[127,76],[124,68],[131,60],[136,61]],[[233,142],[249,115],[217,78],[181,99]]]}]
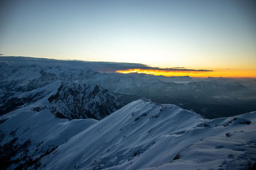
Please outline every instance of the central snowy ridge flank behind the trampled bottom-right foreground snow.
[{"label": "central snowy ridge flank behind the trampled bottom-right foreground snow", "polygon": [[[247,115],[248,117],[251,115],[255,120],[255,112]],[[236,120],[234,117],[207,120],[171,104],[157,105],[140,99],[127,104],[60,146],[56,153],[50,156],[51,159],[47,159],[46,169],[57,167],[68,169],[74,166],[82,169],[140,169],[160,166],[164,162],[170,162],[180,150],[200,139],[220,136],[228,140],[231,137],[227,137],[227,133],[230,133],[230,136],[236,135],[234,131],[230,132],[232,129],[237,131],[237,129],[249,128],[254,132],[255,124],[252,127],[244,123],[251,121],[245,117],[246,115],[238,115]],[[231,123],[228,123],[230,121]],[[90,136],[90,139],[86,136]],[[189,141],[186,140],[188,138]],[[77,145],[78,141],[79,145]],[[79,148],[77,156],[72,153],[72,150],[77,150],[76,148]],[[72,160],[61,157],[68,154],[73,158]],[[74,160],[76,164],[72,163]],[[59,162],[65,164],[61,165]]]}]

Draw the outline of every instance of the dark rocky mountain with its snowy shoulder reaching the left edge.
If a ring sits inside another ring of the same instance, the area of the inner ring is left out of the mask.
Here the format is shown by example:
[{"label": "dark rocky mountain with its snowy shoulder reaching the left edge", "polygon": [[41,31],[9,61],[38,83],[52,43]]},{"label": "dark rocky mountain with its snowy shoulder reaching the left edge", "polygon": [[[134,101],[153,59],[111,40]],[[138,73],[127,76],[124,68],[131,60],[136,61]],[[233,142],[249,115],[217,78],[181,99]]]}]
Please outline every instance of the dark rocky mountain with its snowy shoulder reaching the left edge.
[{"label": "dark rocky mountain with its snowy shoulder reaching the left edge", "polygon": [[[35,89],[35,87],[34,87]],[[20,107],[33,111],[49,109],[60,118],[95,118],[100,120],[123,104],[99,85],[53,81],[29,92],[2,91],[1,115]]]}]

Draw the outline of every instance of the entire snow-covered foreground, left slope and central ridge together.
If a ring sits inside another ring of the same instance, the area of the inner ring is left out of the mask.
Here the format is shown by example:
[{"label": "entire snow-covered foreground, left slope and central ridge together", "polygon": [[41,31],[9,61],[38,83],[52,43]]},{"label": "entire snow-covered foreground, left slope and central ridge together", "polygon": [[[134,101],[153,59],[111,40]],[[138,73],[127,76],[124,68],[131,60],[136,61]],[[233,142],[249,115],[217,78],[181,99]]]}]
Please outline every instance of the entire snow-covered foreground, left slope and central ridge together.
[{"label": "entire snow-covered foreground, left slope and central ridge together", "polygon": [[256,112],[209,120],[145,98],[99,121],[27,106],[3,115],[0,129],[10,169],[248,169],[256,161]]}]

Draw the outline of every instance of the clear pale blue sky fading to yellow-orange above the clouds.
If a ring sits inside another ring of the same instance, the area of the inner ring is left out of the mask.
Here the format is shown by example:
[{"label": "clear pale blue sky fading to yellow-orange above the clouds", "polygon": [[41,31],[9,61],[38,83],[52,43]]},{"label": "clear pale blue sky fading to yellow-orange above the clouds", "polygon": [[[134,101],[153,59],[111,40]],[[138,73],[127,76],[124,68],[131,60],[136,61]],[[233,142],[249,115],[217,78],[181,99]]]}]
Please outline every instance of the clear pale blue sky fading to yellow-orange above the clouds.
[{"label": "clear pale blue sky fading to yellow-orange above the clouds", "polygon": [[0,53],[256,77],[256,3],[1,0]]}]

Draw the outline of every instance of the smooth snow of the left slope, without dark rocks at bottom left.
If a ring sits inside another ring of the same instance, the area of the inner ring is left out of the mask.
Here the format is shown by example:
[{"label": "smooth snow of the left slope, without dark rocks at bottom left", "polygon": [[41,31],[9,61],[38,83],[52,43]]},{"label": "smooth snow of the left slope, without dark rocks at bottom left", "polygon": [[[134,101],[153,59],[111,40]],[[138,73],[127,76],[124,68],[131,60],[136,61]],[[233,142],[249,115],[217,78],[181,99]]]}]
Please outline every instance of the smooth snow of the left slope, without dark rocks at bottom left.
[{"label": "smooth snow of the left slope, without dark rocks at bottom left", "polygon": [[[31,112],[26,111],[26,108],[3,115],[1,120],[6,120],[0,124],[1,146],[13,138],[17,138],[16,143],[20,145],[30,141],[31,145],[27,148],[28,153],[25,153],[32,159],[54,150],[72,136],[97,122],[90,118],[74,120],[56,118],[49,110]],[[17,153],[13,160],[23,157],[25,153]],[[12,164],[9,168],[14,169],[14,167],[15,165]]]}]

